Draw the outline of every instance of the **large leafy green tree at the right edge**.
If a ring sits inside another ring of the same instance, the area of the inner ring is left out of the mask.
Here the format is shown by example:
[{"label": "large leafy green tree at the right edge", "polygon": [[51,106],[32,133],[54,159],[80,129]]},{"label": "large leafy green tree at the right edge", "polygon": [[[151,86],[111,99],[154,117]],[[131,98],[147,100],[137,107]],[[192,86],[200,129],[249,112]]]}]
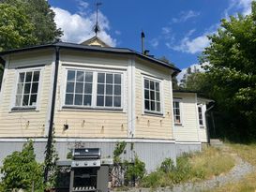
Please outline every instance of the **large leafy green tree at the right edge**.
[{"label": "large leafy green tree at the right edge", "polygon": [[221,20],[218,32],[201,57],[211,82],[209,95],[225,118],[224,137],[255,140],[256,136],[256,2],[248,16]]}]

